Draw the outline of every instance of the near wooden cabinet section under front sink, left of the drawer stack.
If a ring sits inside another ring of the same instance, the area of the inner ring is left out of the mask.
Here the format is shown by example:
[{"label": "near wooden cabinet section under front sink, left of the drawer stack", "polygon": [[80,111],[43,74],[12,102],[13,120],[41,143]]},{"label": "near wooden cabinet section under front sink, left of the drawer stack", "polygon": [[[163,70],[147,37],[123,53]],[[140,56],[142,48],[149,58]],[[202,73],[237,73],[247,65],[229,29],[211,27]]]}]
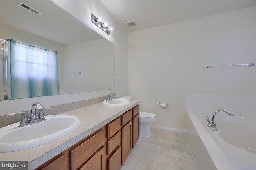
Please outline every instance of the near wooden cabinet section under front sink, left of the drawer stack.
[{"label": "near wooden cabinet section under front sink, left of the drawer stack", "polygon": [[105,144],[106,130],[102,127],[36,170],[106,170]]}]

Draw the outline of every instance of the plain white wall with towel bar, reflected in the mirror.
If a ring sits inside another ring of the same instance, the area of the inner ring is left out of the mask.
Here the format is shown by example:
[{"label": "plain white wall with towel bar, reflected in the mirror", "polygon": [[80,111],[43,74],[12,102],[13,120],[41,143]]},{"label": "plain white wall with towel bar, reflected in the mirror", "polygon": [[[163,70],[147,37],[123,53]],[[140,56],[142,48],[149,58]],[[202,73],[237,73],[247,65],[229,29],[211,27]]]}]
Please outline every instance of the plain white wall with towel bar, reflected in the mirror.
[{"label": "plain white wall with towel bar, reflected in the mirror", "polygon": [[110,41],[102,38],[66,45],[64,51],[64,72],[82,74],[64,74],[60,90],[86,92],[113,88],[113,44]]}]

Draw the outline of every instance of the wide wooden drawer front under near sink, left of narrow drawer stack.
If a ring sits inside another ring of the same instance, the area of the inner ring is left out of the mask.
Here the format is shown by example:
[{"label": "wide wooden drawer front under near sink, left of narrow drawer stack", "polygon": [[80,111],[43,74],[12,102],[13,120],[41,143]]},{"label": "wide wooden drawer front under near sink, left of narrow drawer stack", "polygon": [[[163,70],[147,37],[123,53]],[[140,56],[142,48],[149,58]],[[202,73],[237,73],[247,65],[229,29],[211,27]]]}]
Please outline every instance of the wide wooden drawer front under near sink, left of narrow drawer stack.
[{"label": "wide wooden drawer front under near sink, left of narrow drawer stack", "polygon": [[90,137],[84,143],[71,150],[71,168],[75,170],[79,168],[90,156],[104,145],[105,132],[101,129],[94,136]]}]

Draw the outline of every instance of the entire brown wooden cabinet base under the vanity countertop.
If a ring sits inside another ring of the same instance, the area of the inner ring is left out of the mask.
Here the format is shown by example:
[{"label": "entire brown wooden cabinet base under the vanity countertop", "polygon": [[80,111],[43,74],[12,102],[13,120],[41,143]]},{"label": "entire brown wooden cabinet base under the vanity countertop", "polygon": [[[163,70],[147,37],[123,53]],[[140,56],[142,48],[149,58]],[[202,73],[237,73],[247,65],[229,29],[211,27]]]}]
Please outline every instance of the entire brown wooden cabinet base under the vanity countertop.
[{"label": "entire brown wooden cabinet base under the vanity countertop", "polygon": [[36,170],[120,170],[139,139],[138,112],[137,105]]}]

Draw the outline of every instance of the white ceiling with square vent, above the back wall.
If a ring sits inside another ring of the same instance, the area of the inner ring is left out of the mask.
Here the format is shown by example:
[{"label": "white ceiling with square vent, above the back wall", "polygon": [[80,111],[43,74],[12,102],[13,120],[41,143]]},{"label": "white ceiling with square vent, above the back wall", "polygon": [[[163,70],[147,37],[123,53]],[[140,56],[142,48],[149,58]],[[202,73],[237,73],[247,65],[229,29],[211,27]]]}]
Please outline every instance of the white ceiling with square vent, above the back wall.
[{"label": "white ceiling with square vent, above the back wall", "polygon": [[[100,0],[128,32],[256,6],[256,0]],[[128,27],[126,21],[136,20]]]}]

